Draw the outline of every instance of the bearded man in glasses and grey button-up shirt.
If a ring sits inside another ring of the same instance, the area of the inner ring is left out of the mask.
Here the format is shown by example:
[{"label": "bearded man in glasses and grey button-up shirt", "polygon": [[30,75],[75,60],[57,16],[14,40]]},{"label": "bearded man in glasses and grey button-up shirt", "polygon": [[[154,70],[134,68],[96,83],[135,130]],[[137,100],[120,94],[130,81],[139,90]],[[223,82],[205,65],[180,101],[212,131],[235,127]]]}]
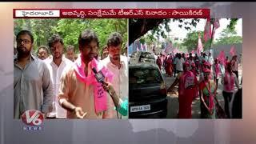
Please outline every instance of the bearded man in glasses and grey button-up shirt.
[{"label": "bearded man in glasses and grey button-up shirt", "polygon": [[18,57],[14,59],[14,118],[26,110],[49,111],[53,86],[46,63],[31,54],[34,38],[30,31],[17,34]]}]

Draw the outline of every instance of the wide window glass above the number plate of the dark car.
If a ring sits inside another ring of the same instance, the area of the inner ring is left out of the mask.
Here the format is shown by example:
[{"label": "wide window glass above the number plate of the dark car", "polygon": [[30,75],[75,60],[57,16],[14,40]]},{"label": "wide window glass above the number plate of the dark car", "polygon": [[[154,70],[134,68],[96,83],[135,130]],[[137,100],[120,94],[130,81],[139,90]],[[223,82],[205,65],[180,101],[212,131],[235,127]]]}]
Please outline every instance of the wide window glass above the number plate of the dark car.
[{"label": "wide window glass above the number plate of the dark car", "polygon": [[162,76],[156,68],[133,68],[129,69],[130,84],[160,83]]}]

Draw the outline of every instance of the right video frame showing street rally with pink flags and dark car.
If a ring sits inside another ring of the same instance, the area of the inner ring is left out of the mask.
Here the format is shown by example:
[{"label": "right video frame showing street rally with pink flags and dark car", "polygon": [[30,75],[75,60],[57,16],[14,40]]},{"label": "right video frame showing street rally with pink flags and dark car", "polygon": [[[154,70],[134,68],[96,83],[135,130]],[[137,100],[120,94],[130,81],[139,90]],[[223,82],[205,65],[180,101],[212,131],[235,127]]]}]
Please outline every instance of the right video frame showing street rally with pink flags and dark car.
[{"label": "right video frame showing street rally with pink flags and dark car", "polygon": [[242,118],[242,19],[130,19],[129,118]]}]

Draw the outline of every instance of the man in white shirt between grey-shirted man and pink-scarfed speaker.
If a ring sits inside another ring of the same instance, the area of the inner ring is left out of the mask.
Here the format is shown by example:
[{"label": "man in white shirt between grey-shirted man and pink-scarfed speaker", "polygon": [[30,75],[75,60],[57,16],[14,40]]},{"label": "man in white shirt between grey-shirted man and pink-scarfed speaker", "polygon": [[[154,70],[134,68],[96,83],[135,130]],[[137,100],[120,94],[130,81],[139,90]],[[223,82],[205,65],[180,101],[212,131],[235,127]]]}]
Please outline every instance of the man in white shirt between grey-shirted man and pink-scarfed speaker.
[{"label": "man in white shirt between grey-shirted man and pink-scarfed speaker", "polygon": [[54,34],[49,39],[50,52],[53,55],[52,58],[44,60],[46,66],[50,70],[50,80],[54,87],[54,99],[53,109],[47,114],[48,118],[66,118],[66,110],[58,103],[58,89],[60,86],[60,80],[63,70],[66,66],[71,66],[73,62],[65,58],[63,55],[63,40],[58,34]]}]

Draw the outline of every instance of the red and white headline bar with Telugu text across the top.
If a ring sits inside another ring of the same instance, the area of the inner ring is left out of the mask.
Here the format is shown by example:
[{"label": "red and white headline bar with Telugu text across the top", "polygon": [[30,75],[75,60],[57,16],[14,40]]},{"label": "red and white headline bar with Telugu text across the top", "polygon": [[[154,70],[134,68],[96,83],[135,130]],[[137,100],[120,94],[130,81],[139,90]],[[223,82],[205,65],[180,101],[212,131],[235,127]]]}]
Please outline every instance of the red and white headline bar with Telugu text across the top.
[{"label": "red and white headline bar with Telugu text across the top", "polygon": [[210,18],[210,9],[14,9],[14,18]]}]

